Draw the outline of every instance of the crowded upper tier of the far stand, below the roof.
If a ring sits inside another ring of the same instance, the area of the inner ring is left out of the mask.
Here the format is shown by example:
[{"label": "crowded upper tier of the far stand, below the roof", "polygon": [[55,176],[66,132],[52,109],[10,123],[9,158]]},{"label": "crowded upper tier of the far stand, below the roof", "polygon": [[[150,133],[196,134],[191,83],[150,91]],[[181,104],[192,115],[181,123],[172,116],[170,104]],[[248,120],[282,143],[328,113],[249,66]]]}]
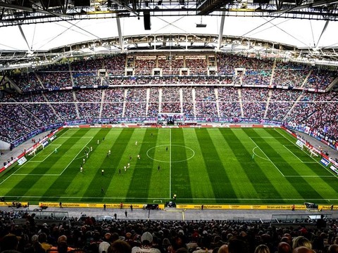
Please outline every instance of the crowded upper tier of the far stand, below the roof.
[{"label": "crowded upper tier of the far stand, below the roof", "polygon": [[[209,66],[215,67],[215,72],[209,73]],[[130,69],[132,71],[128,73]],[[161,74],[154,70],[161,70]],[[49,65],[32,72],[23,71],[13,74],[11,79],[23,91],[177,83],[290,86],[325,90],[335,77],[337,72],[334,70],[218,53],[210,59],[208,56],[183,55],[130,58],[124,54],[85,58]]]}]

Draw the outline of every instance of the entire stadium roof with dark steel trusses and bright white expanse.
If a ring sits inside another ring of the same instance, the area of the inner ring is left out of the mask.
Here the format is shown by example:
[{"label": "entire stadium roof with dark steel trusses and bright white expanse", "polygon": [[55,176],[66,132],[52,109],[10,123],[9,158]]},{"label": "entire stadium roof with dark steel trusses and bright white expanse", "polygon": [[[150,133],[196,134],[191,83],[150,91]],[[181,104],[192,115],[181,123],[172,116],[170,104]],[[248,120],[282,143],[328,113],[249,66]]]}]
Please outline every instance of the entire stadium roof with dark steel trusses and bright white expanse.
[{"label": "entire stadium roof with dark steel trusses and bright white expanse", "polygon": [[294,58],[338,58],[333,0],[1,0],[1,7],[3,66],[35,57],[41,61],[42,56],[56,61],[75,51],[154,51],[161,46],[288,50]]}]

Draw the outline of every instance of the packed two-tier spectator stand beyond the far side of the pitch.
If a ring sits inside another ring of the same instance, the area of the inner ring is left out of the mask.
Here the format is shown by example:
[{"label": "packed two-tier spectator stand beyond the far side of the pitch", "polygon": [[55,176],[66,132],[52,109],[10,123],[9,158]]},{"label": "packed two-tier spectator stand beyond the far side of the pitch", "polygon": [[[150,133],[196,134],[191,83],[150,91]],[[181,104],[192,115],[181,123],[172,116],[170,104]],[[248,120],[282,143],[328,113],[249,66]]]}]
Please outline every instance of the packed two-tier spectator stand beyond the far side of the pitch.
[{"label": "packed two-tier spectator stand beyond the far side of the pitch", "polygon": [[[226,53],[215,53],[213,59],[120,54],[13,74],[23,94],[5,98],[21,104],[1,105],[1,140],[18,145],[27,139],[25,134],[73,120],[134,122],[154,119],[158,112],[184,112],[189,122],[264,119],[293,128],[308,126],[331,144],[337,141],[337,96],[324,92],[337,72]],[[207,75],[209,64],[217,67],[214,75]],[[125,76],[127,67],[132,76]],[[161,74],[153,76],[154,69]],[[13,118],[9,111],[20,116]]]}]

